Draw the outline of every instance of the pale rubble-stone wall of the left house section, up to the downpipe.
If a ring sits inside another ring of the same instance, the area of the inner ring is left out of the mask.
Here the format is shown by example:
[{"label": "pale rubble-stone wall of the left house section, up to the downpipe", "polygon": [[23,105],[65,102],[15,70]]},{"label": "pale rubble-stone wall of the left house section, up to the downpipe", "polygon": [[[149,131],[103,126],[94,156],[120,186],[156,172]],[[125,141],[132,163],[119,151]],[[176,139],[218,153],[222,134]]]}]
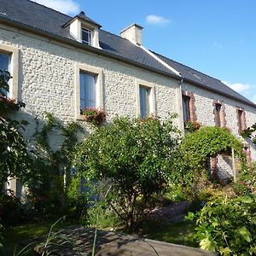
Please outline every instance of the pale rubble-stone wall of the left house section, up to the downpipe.
[{"label": "pale rubble-stone wall of the left house section, up to the downpipe", "polygon": [[[75,120],[75,65],[86,64],[102,68],[103,106],[108,119],[115,115],[135,117],[137,113],[136,81],[143,80],[155,88],[156,114],[166,119],[169,113],[177,113],[177,86],[174,79],[131,67],[119,61],[90,54],[79,49],[70,49],[45,38],[20,32],[0,30],[1,44],[19,49],[18,100],[26,108],[15,116],[27,119],[25,135],[31,139],[38,118],[39,128],[44,112],[54,113],[63,122]],[[84,121],[80,121],[84,124]],[[177,123],[176,123],[177,124]],[[53,136],[51,144],[59,145],[60,138]]]}]

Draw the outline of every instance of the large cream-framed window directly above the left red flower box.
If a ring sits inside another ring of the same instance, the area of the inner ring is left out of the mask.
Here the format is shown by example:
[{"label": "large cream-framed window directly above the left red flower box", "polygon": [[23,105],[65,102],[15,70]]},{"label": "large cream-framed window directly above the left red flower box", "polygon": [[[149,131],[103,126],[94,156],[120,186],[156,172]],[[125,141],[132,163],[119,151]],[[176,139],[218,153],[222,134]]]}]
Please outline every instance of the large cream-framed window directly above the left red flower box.
[{"label": "large cream-framed window directly above the left red flower box", "polygon": [[85,108],[103,109],[102,68],[75,64],[75,91],[76,119],[84,119]]}]

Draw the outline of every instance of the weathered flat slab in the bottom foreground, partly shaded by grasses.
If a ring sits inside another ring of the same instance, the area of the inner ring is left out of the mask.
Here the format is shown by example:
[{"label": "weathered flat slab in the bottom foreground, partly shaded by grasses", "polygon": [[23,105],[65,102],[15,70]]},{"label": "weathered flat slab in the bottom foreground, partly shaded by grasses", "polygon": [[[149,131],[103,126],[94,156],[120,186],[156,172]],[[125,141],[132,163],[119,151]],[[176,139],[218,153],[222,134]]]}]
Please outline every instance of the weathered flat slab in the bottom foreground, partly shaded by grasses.
[{"label": "weathered flat slab in the bottom foreground, partly shaded by grasses", "polygon": [[[57,247],[55,255],[60,256],[87,256],[90,255],[93,238],[93,229],[86,229],[81,226],[69,227],[61,231],[74,242],[74,247]],[[35,248],[42,253],[41,248]],[[129,236],[103,230],[97,231],[96,239],[97,256],[213,256],[218,255],[193,247],[180,246],[163,241],[154,241],[137,236]]]}]

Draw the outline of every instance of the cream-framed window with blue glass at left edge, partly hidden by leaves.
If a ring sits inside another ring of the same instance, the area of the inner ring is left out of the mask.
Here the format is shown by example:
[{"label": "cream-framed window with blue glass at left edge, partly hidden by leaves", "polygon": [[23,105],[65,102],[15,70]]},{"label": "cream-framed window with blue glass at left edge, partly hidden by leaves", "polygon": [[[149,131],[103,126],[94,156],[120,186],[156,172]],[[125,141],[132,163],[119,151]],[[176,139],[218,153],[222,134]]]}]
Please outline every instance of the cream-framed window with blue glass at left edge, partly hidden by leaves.
[{"label": "cream-framed window with blue glass at left edge, partly hidden by leaves", "polygon": [[19,49],[8,44],[0,44],[0,68],[9,71],[12,79],[9,79],[9,94],[11,99],[18,98],[19,81]]}]

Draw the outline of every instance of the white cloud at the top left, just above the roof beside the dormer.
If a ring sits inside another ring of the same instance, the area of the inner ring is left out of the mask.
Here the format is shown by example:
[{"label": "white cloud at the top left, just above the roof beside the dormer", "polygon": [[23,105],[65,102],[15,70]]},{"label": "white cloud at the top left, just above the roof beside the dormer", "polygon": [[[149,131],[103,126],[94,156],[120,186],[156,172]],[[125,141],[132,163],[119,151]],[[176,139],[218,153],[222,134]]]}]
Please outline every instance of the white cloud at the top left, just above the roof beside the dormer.
[{"label": "white cloud at the top left, just above the roof beside the dormer", "polygon": [[79,14],[79,4],[73,0],[33,0],[67,15]]}]

